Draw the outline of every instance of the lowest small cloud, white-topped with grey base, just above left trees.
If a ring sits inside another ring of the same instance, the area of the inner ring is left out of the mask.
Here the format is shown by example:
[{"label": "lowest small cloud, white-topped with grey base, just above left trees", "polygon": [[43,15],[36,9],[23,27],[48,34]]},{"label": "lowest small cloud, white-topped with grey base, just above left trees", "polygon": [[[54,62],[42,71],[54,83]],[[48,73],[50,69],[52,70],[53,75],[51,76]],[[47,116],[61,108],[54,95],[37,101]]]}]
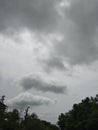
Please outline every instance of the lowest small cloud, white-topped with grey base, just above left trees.
[{"label": "lowest small cloud, white-topped with grey base, just above left trees", "polygon": [[27,106],[41,106],[41,105],[49,105],[54,104],[55,100],[51,100],[47,97],[42,96],[34,96],[29,92],[20,93],[18,96],[13,99],[9,99],[7,101],[7,105],[10,108],[20,108],[24,109]]}]

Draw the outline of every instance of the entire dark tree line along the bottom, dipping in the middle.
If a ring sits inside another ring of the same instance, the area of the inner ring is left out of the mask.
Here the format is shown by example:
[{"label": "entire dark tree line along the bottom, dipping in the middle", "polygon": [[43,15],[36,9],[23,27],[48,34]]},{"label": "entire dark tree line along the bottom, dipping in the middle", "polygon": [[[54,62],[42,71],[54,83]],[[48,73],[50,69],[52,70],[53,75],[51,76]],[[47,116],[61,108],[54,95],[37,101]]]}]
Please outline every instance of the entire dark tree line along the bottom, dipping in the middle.
[{"label": "entire dark tree line along the bottom, dipping in the middle", "polygon": [[61,113],[58,126],[39,119],[35,113],[28,114],[29,107],[23,117],[17,109],[8,112],[3,101],[4,96],[0,101],[0,130],[98,130],[98,95],[86,97]]}]

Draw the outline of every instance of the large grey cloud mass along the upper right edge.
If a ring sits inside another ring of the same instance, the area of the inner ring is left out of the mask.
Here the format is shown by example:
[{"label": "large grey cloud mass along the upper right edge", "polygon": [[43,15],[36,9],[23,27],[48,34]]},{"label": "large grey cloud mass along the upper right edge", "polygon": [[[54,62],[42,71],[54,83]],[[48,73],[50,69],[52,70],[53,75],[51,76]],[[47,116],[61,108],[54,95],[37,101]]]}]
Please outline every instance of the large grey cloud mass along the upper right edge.
[{"label": "large grey cloud mass along the upper right edge", "polygon": [[98,0],[72,0],[63,10],[64,39],[56,45],[58,55],[71,64],[88,64],[98,60]]}]

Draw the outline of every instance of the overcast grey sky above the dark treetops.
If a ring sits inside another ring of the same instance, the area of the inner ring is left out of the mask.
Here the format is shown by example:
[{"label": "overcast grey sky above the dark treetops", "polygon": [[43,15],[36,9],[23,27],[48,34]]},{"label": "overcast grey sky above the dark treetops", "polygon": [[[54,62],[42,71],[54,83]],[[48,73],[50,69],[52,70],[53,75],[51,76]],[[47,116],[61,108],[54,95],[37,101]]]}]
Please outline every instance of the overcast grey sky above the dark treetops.
[{"label": "overcast grey sky above the dark treetops", "polygon": [[0,96],[56,123],[98,94],[98,0],[0,0]]}]

